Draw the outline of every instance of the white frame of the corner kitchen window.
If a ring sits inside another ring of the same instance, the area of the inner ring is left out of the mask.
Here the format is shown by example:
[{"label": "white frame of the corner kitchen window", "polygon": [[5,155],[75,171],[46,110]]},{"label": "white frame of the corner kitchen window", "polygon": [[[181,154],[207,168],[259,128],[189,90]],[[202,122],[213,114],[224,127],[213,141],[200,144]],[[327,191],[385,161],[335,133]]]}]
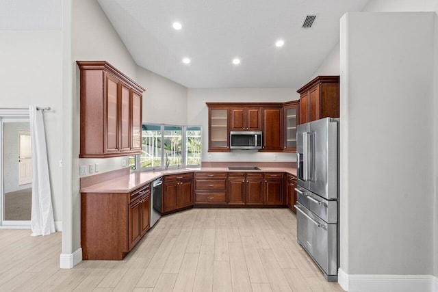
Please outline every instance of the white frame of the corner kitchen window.
[{"label": "white frame of the corner kitchen window", "polygon": [[[165,158],[165,153],[164,153],[164,129],[165,127],[181,127],[181,165],[169,165],[168,170],[173,170],[173,169],[178,169],[178,168],[201,168],[201,165],[188,165],[188,157],[187,157],[187,129],[188,128],[194,128],[194,127],[198,127],[200,129],[201,132],[201,163],[202,163],[202,156],[203,156],[203,127],[200,125],[190,125],[190,126],[181,126],[181,125],[177,125],[177,124],[157,124],[157,123],[153,123],[153,122],[142,122],[142,125],[151,125],[151,126],[157,126],[160,127],[160,131],[161,131],[161,142],[162,142],[162,147],[161,147],[161,164],[159,165],[159,167],[154,166],[154,167],[149,167],[149,168],[141,168],[140,167],[140,157],[141,155],[135,155],[135,169],[131,169],[131,172],[144,172],[144,171],[151,171],[151,170],[164,170],[165,168],[165,164],[166,164],[166,158]],[[142,142],[142,148],[143,148],[143,142]]]}]

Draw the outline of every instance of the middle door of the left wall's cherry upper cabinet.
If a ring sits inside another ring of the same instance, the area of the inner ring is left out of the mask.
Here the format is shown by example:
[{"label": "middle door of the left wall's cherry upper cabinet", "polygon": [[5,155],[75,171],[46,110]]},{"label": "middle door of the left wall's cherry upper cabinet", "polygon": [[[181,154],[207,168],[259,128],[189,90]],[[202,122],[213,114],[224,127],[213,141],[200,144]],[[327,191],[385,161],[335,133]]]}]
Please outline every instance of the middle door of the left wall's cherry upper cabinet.
[{"label": "middle door of the left wall's cherry upper cabinet", "polygon": [[130,122],[129,122],[129,100],[130,90],[127,85],[120,83],[120,151],[130,150]]}]

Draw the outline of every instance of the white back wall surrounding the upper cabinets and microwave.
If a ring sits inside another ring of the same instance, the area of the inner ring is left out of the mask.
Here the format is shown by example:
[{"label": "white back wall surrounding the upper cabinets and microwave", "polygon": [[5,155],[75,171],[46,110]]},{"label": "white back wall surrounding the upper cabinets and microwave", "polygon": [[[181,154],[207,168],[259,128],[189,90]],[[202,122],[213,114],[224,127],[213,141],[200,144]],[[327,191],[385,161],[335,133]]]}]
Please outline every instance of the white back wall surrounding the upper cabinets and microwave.
[{"label": "white back wall surrounding the upper cabinets and microwave", "polygon": [[[310,81],[310,80],[309,80]],[[304,85],[304,84],[303,84]],[[296,161],[294,153],[233,150],[208,152],[207,102],[285,102],[299,99],[294,88],[190,88],[188,90],[188,124],[203,127],[203,161]],[[211,159],[208,159],[211,155]]]}]

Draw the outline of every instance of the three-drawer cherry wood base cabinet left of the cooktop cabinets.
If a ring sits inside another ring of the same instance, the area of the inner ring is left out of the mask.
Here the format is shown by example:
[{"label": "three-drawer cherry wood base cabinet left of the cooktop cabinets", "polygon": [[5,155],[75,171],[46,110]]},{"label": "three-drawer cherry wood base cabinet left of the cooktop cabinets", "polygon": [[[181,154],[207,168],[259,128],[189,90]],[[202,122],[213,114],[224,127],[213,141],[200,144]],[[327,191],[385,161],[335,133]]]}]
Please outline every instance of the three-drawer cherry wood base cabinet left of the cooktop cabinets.
[{"label": "three-drawer cherry wood base cabinet left of the cooktop cabinets", "polygon": [[196,172],[194,203],[198,206],[227,204],[227,172]]}]

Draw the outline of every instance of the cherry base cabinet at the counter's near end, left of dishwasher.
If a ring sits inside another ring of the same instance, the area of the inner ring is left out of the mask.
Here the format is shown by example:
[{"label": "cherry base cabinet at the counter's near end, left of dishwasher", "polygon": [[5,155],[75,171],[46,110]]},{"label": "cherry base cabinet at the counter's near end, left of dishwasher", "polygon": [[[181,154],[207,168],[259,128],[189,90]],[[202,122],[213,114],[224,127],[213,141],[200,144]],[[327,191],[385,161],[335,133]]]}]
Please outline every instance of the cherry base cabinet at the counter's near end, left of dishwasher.
[{"label": "cherry base cabinet at the counter's near end, left of dishwasher", "polygon": [[81,193],[83,260],[122,260],[149,230],[150,184],[130,193]]}]

